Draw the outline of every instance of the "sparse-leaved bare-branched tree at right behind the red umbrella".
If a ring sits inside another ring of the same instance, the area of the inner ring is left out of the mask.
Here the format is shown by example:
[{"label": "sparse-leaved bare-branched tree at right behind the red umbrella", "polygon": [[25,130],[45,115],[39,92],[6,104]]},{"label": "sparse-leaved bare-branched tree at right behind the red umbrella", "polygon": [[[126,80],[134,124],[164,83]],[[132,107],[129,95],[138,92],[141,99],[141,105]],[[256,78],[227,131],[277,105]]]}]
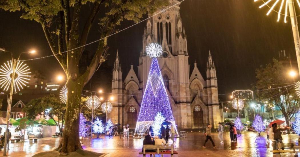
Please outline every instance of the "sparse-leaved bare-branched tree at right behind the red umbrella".
[{"label": "sparse-leaved bare-branched tree at right behind the red umbrella", "polygon": [[266,67],[256,69],[256,90],[258,90],[256,95],[262,102],[268,101],[277,106],[288,126],[300,100],[295,94],[294,80],[288,75],[289,70],[289,66],[276,59]]}]

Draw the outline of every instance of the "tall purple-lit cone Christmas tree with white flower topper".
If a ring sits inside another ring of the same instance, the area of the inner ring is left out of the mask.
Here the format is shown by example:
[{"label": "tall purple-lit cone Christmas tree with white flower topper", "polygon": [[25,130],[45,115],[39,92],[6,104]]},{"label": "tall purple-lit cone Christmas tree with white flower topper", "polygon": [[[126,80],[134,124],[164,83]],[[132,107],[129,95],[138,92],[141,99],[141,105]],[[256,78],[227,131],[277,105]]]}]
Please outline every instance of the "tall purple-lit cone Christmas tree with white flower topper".
[{"label": "tall purple-lit cone Christmas tree with white flower topper", "polygon": [[155,124],[155,116],[159,112],[165,118],[165,121],[171,122],[176,128],[158,60],[155,58],[162,54],[161,45],[149,44],[146,48],[146,53],[154,58],[150,66],[140,114],[135,128],[135,133],[138,135],[143,135],[144,132],[148,131],[150,126]]}]

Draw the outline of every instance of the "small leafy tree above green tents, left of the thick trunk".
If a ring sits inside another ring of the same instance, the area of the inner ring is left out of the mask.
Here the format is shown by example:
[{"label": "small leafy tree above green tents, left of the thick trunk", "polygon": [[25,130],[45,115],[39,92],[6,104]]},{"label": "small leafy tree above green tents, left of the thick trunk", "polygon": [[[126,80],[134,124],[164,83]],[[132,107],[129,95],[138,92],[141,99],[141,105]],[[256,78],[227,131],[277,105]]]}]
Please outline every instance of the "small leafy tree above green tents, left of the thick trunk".
[{"label": "small leafy tree above green tents, left of the thick trunk", "polygon": [[[23,112],[26,113],[28,118],[34,119],[37,115],[48,116],[53,119],[55,124],[59,128],[59,132],[62,135],[62,126],[64,124],[64,114],[66,112],[66,105],[54,97],[54,95],[45,96],[38,99],[32,99],[23,108]],[[55,121],[57,118],[57,121]]]}]

